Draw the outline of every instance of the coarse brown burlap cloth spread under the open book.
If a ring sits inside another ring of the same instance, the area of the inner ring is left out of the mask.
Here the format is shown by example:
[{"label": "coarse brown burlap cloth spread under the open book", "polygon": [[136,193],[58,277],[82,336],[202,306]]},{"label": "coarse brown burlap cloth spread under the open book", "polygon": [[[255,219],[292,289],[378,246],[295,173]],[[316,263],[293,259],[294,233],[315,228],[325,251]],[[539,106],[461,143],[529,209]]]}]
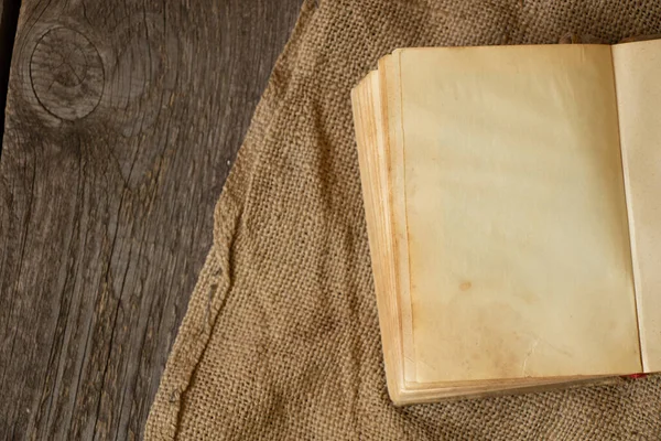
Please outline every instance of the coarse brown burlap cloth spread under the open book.
[{"label": "coarse brown burlap cloth spread under the open book", "polygon": [[615,42],[661,4],[303,4],[216,208],[148,439],[661,439],[661,377],[395,408],[386,391],[349,90],[401,46]]}]

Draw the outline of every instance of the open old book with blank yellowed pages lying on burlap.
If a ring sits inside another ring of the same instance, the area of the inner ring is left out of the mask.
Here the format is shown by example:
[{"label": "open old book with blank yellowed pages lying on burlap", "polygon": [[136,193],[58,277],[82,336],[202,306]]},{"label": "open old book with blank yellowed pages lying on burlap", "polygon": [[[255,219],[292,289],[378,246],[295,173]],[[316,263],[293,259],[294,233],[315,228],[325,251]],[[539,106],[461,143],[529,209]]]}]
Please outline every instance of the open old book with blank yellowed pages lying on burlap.
[{"label": "open old book with blank yellowed pages lying on burlap", "polygon": [[661,41],[394,51],[351,93],[395,404],[661,370]]}]

